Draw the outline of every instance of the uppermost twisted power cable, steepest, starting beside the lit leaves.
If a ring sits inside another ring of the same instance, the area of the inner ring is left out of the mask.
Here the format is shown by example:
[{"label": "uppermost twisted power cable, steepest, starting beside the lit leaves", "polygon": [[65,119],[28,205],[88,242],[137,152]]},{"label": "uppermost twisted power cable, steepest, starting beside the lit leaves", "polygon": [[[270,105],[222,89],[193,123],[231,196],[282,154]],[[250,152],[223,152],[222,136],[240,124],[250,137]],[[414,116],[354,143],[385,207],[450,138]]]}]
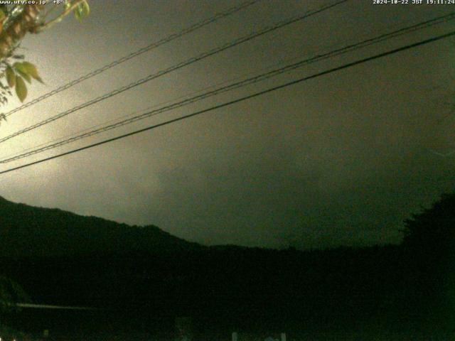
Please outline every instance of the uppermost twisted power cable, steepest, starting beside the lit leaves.
[{"label": "uppermost twisted power cable, steepest, starting beside the lit leaves", "polygon": [[173,33],[171,36],[167,36],[166,38],[163,38],[161,40],[155,41],[154,43],[151,43],[144,48],[140,48],[139,50],[136,50],[132,53],[129,53],[129,55],[124,55],[122,58],[119,58],[117,60],[114,60],[112,63],[109,63],[107,65],[104,65],[100,67],[97,70],[93,70],[92,72],[87,73],[87,75],[83,75],[82,77],[77,78],[76,80],[72,80],[71,82],[66,83],[65,85],[62,85],[50,92],[47,92],[40,97],[37,97],[36,99],[33,99],[31,102],[28,102],[26,104],[22,104],[20,107],[17,107],[10,112],[7,112],[5,114],[6,117],[9,117],[11,114],[14,114],[15,112],[18,112],[22,109],[25,109],[27,107],[31,107],[33,104],[36,104],[38,102],[43,101],[43,99],[46,99],[48,97],[53,96],[54,94],[58,94],[59,92],[62,92],[63,90],[67,90],[70,87],[73,87],[80,82],[83,82],[84,80],[88,80],[89,78],[95,77],[96,75],[99,75],[102,72],[105,72],[106,70],[109,70],[111,67],[117,66],[119,64],[122,64],[126,62],[127,60],[130,60],[132,58],[137,57],[138,55],[141,55],[143,53],[149,52],[150,50],[154,50],[155,48],[158,48],[161,45],[164,45],[166,43],[171,42],[172,40],[175,40],[177,38],[180,38],[182,36],[185,36],[188,33],[191,33],[193,31],[198,30],[199,28],[202,28],[203,26],[207,26],[210,23],[215,23],[216,21],[220,20],[221,18],[225,18],[227,16],[230,16],[233,13],[236,13],[237,11],[241,11],[242,9],[246,9],[249,6],[252,6],[253,4],[256,4],[261,0],[252,0],[252,1],[246,1],[243,4],[240,4],[239,6],[231,7],[227,11],[216,13],[215,16],[212,16],[211,18],[207,18],[203,21],[200,21],[198,23],[195,23],[192,26],[189,26],[187,28],[184,28],[182,31],[178,33]]}]

